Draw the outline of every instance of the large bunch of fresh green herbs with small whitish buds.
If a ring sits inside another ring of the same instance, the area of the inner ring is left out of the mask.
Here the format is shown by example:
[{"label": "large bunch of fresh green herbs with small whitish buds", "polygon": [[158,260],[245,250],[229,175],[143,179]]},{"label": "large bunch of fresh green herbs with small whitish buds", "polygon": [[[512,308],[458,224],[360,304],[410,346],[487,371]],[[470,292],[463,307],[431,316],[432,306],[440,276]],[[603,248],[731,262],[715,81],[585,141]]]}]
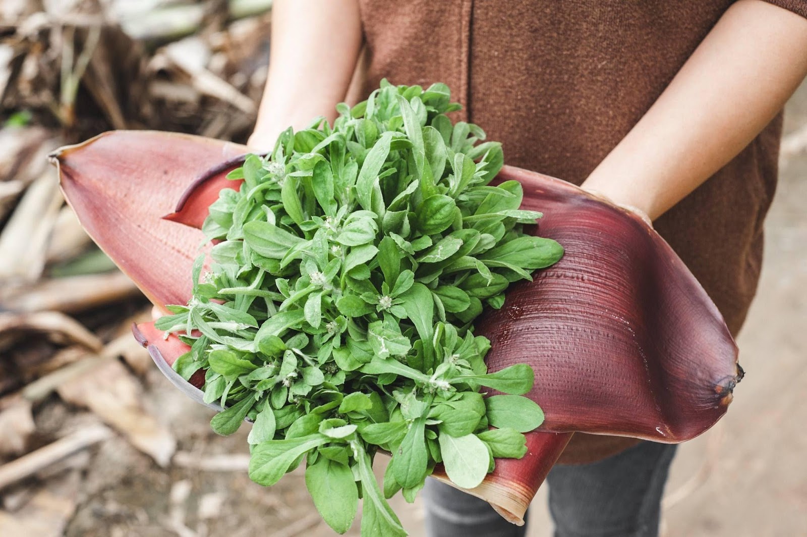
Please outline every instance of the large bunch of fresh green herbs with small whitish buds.
[{"label": "large bunch of fresh green herbs with small whitish buds", "polygon": [[[193,299],[157,322],[191,344],[176,370],[206,369],[205,400],[227,407],[213,429],[254,421],[249,476],[273,485],[305,459],[341,533],[363,497],[362,535],[406,535],[385,498],[413,501],[438,463],[473,488],[543,420],[521,396],[533,370],[487,373],[472,322],[562,248],[523,232],[541,214],[519,209],[518,182],[488,186],[500,144],[452,124],[458,107],[443,84],[383,82],[332,127],[318,119],[247,157],[203,227],[220,241],[210,271],[200,281],[199,258]],[[392,454],[383,489],[378,450]]]}]

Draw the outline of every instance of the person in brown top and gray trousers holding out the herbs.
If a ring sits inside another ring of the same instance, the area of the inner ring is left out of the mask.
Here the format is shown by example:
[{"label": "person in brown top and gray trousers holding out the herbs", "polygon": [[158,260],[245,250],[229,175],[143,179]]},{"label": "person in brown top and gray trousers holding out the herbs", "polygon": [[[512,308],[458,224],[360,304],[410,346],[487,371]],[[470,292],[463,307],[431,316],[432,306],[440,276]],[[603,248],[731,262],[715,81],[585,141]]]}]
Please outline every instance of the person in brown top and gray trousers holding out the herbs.
[{"label": "person in brown top and gray trousers holding out the herbs", "polygon": [[[381,78],[445,82],[463,105],[454,120],[502,141],[506,163],[652,220],[738,333],[780,111],[807,74],[807,0],[277,0],[272,17],[249,145],[333,120],[349,89],[366,99]],[[674,452],[575,434],[547,479],[556,537],[658,535]],[[429,535],[525,535],[446,485],[424,493]]]}]

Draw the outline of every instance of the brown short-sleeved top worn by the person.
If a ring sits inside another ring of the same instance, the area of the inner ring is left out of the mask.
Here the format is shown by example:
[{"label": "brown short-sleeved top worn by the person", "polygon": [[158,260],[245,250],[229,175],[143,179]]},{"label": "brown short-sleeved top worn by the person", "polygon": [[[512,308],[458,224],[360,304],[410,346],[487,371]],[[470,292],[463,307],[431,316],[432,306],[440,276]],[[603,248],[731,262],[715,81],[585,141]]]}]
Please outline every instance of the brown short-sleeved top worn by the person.
[{"label": "brown short-sleeved top worn by the person", "polygon": [[[365,96],[381,78],[445,82],[458,119],[507,164],[579,184],[659,97],[732,0],[362,0]],[[807,0],[771,0],[807,17]],[[761,86],[760,90],[764,90]],[[754,296],[776,188],[781,115],[654,223],[737,334]],[[575,434],[561,462],[638,442]]]}]

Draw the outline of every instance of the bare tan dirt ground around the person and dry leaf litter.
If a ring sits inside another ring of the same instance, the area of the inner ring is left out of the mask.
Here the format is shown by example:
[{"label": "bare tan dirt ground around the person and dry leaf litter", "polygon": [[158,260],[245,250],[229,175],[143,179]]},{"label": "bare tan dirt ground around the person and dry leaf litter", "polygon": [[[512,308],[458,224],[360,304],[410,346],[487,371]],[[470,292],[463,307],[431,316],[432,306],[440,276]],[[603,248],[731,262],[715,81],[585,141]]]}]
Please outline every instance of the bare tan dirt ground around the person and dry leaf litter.
[{"label": "bare tan dirt ground around the person and dry leaf litter", "polygon": [[[807,85],[788,105],[785,131],[762,281],[739,338],[747,375],[725,419],[679,450],[664,500],[667,537],[807,535],[807,365],[801,340],[807,327]],[[299,472],[271,490],[249,481],[247,427],[230,438],[216,437],[207,424],[211,413],[186,400],[156,369],[148,375],[146,404],[178,438],[178,454],[160,468],[122,438],[102,443],[80,486],[71,482],[77,472],[61,478],[79,501],[65,535],[333,535],[313,510]],[[38,428],[82,418],[59,409],[40,413]],[[82,461],[72,464],[80,467]],[[420,504],[408,506],[398,497],[394,506],[408,531],[423,535]],[[551,528],[542,489],[529,535],[546,537]],[[358,535],[358,527],[349,535]]]}]

